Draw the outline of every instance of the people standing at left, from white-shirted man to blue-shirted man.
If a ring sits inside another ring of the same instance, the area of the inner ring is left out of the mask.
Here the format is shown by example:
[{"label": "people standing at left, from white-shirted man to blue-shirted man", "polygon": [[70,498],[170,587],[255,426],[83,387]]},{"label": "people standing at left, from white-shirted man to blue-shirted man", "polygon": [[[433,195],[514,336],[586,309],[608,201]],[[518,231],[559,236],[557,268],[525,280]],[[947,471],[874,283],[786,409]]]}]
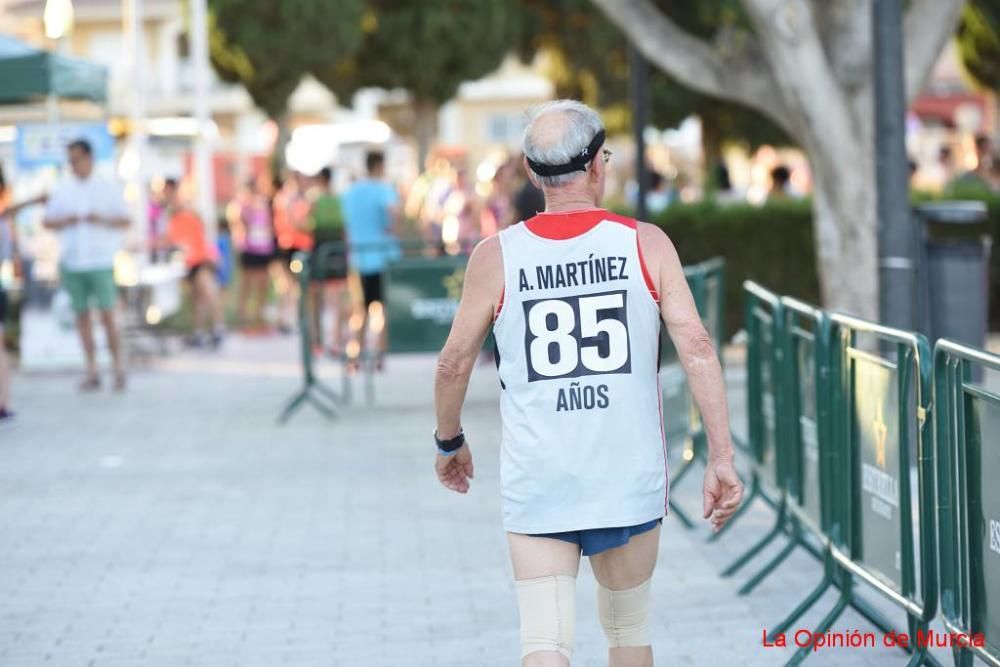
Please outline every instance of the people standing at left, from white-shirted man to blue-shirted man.
[{"label": "people standing at left, from white-shirted man to blue-shirted man", "polygon": [[[67,159],[69,173],[50,193],[17,204],[10,201],[0,170],[0,258],[10,255],[16,261],[18,257],[14,215],[27,206],[44,204],[43,226],[59,237],[60,282],[72,304],[84,352],[79,389],[93,392],[102,385],[93,331],[96,310],[111,353],[111,386],[123,391],[126,372],[115,321],[114,262],[130,216],[121,185],[95,170],[90,143],[70,143]],[[321,250],[322,262],[310,262],[309,267],[312,340],[318,348],[345,357],[349,368],[356,368],[369,323],[382,308],[386,266],[399,254],[396,234],[401,211],[395,188],[385,181],[385,157],[380,152],[368,153],[365,177],[343,194],[336,194],[332,184],[329,167],[312,176],[293,174],[285,183],[254,179],[226,208],[223,233],[216,242],[186,203],[181,183],[173,178],[163,182],[150,209],[148,250],[154,260],[172,251],[184,257],[193,305],[189,344],[217,347],[222,342],[222,286],[230,273],[224,239],[231,238],[241,270],[236,315],[240,326],[250,330],[265,324],[264,306],[272,294],[272,281],[279,300],[277,325],[292,330],[299,298],[296,253]],[[352,274],[359,278],[356,289],[351,289]],[[360,292],[359,299],[351,298],[355,292]],[[360,304],[355,307],[356,302],[364,304],[363,310]],[[328,307],[336,324],[323,341],[320,320]],[[13,418],[4,346],[6,320],[7,298],[0,285],[0,425]],[[384,322],[381,313],[378,321]],[[385,328],[372,333],[376,366],[381,368]]]}]

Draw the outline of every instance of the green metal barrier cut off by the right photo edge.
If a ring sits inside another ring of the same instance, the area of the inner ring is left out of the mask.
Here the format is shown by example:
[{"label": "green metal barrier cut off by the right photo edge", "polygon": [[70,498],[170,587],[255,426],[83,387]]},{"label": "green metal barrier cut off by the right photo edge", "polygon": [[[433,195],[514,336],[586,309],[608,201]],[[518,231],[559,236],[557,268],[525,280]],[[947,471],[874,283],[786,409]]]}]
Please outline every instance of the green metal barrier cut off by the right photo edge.
[{"label": "green metal barrier cut off by the right photo edge", "polygon": [[934,348],[941,616],[984,640],[953,646],[962,666],[1000,665],[1000,394],[976,381],[985,369],[1000,370],[1000,356],[947,339]]}]

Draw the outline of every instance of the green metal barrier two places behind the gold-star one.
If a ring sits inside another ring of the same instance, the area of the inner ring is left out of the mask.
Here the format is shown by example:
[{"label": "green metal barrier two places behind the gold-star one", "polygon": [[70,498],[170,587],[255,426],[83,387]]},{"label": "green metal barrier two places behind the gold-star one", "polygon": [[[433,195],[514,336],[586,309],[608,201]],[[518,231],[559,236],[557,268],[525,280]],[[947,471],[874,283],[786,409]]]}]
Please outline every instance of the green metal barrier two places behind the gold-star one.
[{"label": "green metal barrier two places behind the gold-star one", "polygon": [[[785,441],[785,315],[781,299],[757,283],[743,283],[744,322],[747,331],[747,418],[749,442],[741,447],[752,455],[750,493],[729,520],[733,523],[751,503],[761,498],[777,508],[774,526],[722,571],[728,577],[750,562],[775,538],[787,530],[788,468]],[[785,554],[787,555],[787,554]],[[782,556],[782,559],[784,556]],[[780,561],[778,561],[780,562]],[[768,564],[752,580],[756,586],[776,566]],[[744,592],[749,592],[749,590]]]}]

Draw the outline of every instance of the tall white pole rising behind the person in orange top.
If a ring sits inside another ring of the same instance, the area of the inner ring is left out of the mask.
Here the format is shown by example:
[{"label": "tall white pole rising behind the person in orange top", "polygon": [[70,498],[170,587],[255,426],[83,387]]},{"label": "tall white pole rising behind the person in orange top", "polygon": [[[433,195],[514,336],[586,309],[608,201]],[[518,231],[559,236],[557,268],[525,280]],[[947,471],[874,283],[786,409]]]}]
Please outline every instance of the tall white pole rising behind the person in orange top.
[{"label": "tall white pole rising behind the person in orange top", "polygon": [[214,241],[218,234],[215,209],[215,170],[212,168],[211,114],[208,108],[208,10],[206,0],[191,0],[191,57],[194,66],[194,118],[198,133],[194,143],[194,175],[198,191],[198,214],[205,234]]}]

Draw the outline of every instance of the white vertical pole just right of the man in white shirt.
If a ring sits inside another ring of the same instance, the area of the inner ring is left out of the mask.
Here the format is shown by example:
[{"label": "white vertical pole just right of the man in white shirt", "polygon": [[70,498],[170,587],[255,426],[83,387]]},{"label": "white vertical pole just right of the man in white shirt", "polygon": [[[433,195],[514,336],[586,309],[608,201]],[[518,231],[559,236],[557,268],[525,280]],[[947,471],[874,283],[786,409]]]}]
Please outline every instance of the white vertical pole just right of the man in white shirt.
[{"label": "white vertical pole just right of the man in white shirt", "polygon": [[129,100],[129,146],[135,168],[128,178],[128,190],[135,207],[132,209],[132,233],[147,240],[149,186],[146,179],[146,39],[142,19],[142,0],[124,0],[123,18],[128,38],[131,62],[132,95]]}]

